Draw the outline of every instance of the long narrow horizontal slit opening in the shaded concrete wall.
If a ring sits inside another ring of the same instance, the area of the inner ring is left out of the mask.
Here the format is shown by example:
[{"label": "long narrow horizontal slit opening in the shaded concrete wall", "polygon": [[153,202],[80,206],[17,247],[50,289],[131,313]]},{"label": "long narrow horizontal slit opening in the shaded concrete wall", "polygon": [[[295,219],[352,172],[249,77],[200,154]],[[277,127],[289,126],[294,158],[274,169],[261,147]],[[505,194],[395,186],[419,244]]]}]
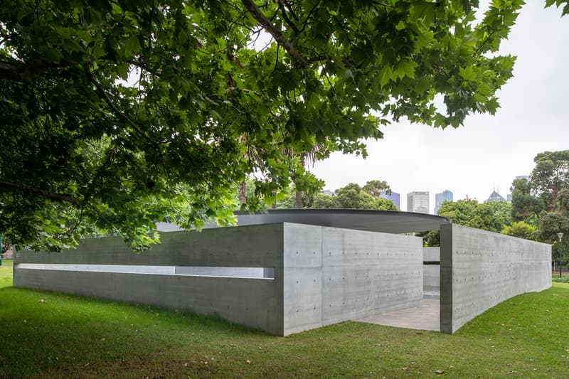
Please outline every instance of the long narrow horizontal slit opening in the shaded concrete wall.
[{"label": "long narrow horizontal slit opening in the shaded concrete wall", "polygon": [[60,263],[18,263],[15,269],[48,271],[111,272],[117,274],[176,275],[186,277],[233,277],[240,279],[275,279],[273,267],[198,267],[143,265],[73,265]]}]

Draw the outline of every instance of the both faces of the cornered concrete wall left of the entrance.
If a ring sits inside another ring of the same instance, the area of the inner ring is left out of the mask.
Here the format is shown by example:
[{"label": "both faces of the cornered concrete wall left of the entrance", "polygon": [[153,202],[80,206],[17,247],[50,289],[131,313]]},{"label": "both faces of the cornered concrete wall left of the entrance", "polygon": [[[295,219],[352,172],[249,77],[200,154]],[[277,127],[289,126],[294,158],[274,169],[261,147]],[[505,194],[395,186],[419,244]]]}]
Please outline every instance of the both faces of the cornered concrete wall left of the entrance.
[{"label": "both faces of the cornered concrete wall left of the entrance", "polygon": [[[407,235],[292,223],[163,233],[162,243],[142,254],[130,252],[119,238],[98,238],[61,253],[19,252],[14,285],[189,308],[287,335],[418,305],[421,243]],[[139,273],[23,268],[26,264],[158,265],[165,272],[175,267],[174,273],[194,272],[184,267],[262,267],[273,279],[144,274],[144,267],[136,268]]]}]

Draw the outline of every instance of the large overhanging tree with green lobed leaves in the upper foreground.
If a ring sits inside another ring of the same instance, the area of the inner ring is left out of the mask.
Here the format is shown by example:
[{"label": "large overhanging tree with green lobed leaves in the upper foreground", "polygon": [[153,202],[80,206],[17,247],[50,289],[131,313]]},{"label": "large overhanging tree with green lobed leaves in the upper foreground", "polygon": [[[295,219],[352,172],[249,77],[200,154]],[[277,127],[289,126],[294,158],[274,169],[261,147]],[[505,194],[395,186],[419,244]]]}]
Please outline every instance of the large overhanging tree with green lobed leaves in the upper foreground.
[{"label": "large overhanging tree with green lobed leaves in the upper foreground", "polygon": [[142,249],[156,221],[229,223],[250,174],[275,203],[315,144],[365,155],[391,120],[494,114],[522,3],[477,21],[457,0],[5,0],[0,232],[57,250],[90,225]]}]

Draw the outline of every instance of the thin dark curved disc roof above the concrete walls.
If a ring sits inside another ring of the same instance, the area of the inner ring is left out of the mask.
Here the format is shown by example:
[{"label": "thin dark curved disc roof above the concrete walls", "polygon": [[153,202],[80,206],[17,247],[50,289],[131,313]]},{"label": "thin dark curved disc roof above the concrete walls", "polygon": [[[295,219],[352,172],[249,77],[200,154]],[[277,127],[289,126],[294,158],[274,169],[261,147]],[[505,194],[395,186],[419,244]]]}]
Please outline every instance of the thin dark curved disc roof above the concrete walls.
[{"label": "thin dark curved disc roof above the concrete walls", "polygon": [[267,213],[235,212],[238,225],[297,223],[368,230],[383,233],[413,233],[439,229],[448,218],[425,213],[363,209],[271,209]]}]

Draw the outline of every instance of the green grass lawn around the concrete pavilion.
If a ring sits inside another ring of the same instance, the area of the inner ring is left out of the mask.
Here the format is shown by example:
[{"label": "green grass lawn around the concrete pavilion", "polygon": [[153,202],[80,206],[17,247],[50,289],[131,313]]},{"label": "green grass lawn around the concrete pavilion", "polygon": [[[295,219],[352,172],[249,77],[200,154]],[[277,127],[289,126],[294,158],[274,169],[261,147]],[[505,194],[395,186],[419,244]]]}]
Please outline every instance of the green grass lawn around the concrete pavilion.
[{"label": "green grass lawn around the concrete pavilion", "polygon": [[504,301],[454,335],[345,322],[288,337],[16,289],[11,267],[1,286],[0,378],[569,378],[569,284]]}]

